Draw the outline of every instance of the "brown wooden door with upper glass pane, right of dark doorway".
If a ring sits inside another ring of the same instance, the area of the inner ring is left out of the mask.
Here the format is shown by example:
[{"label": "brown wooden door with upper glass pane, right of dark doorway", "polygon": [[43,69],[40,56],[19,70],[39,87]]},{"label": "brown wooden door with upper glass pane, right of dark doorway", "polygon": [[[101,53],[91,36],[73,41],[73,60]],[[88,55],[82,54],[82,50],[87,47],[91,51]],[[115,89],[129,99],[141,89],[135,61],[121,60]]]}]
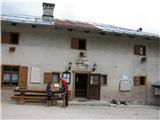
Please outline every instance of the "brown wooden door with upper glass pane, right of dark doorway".
[{"label": "brown wooden door with upper glass pane, right of dark doorway", "polygon": [[90,74],[88,80],[88,90],[87,90],[88,99],[100,99],[100,75],[99,74]]}]

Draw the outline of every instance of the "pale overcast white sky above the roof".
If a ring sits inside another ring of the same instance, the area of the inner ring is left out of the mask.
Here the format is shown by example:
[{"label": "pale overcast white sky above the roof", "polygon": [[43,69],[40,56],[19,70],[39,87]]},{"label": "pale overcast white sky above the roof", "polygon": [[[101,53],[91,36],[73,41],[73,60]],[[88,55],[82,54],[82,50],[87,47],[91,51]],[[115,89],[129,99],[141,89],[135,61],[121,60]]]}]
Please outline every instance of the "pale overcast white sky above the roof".
[{"label": "pale overcast white sky above the roof", "polygon": [[42,15],[55,3],[54,17],[111,24],[160,35],[160,0],[3,0],[1,14]]}]

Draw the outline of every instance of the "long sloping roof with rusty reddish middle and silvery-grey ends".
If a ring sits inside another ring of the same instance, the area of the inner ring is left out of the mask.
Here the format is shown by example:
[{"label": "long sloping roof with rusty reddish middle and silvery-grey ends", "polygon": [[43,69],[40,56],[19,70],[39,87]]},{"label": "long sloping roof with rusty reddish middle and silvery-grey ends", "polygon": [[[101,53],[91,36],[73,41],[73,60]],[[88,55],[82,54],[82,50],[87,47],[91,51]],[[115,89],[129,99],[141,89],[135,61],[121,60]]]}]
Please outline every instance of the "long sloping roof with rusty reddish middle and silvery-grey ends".
[{"label": "long sloping roof with rusty reddish middle and silvery-grey ends", "polygon": [[52,22],[45,22],[42,20],[42,17],[26,16],[26,15],[1,15],[1,20],[8,22],[24,23],[24,24],[49,25],[49,26],[53,25],[53,26],[72,28],[72,29],[98,30],[100,32],[110,32],[115,34],[127,34],[131,36],[160,38],[160,36],[156,34],[139,32],[137,30],[126,29],[122,27],[117,27],[108,24],[100,24],[100,23],[88,23],[88,22],[61,20],[61,19],[54,19]]}]

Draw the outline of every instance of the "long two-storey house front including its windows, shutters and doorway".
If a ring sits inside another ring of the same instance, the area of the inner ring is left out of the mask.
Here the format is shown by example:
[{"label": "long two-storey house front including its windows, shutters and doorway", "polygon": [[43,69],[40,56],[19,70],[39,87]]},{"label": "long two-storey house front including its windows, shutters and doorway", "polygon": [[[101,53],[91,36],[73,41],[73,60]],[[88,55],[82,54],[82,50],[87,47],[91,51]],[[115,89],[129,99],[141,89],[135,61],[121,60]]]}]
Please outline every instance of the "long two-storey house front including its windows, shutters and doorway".
[{"label": "long two-storey house front including its windows, shutters and doorway", "polygon": [[71,99],[155,103],[151,84],[160,80],[159,37],[66,27],[58,20],[1,23],[2,87],[45,89],[63,76]]}]

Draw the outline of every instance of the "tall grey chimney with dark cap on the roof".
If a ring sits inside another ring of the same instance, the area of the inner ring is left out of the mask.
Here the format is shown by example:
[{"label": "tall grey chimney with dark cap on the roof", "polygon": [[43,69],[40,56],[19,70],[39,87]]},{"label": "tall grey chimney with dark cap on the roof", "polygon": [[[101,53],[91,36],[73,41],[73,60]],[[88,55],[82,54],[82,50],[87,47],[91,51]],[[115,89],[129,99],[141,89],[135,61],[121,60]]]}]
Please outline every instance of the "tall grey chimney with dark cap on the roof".
[{"label": "tall grey chimney with dark cap on the roof", "polygon": [[45,22],[52,22],[53,21],[53,10],[55,4],[52,3],[43,3],[43,15],[42,19]]}]

